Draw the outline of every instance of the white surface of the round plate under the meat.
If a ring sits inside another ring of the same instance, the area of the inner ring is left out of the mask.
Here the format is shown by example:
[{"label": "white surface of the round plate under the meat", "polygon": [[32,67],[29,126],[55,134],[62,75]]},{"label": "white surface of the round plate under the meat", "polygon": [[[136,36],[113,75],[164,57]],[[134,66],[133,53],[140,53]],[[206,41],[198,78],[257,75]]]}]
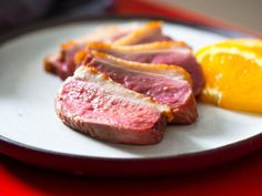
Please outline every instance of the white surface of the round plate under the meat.
[{"label": "white surface of the round plate under the meat", "polygon": [[[114,19],[75,21],[27,32],[4,42],[0,48],[2,141],[39,152],[81,156],[85,159],[153,159],[213,151],[261,136],[262,115],[204,104],[198,104],[196,123],[168,126],[163,141],[157,145],[104,143],[63,125],[53,107],[53,96],[62,81],[43,71],[44,55],[57,51],[61,42],[82,37],[98,25],[125,22]],[[163,31],[188,42],[194,50],[225,39],[214,32],[181,23],[165,22]]]}]

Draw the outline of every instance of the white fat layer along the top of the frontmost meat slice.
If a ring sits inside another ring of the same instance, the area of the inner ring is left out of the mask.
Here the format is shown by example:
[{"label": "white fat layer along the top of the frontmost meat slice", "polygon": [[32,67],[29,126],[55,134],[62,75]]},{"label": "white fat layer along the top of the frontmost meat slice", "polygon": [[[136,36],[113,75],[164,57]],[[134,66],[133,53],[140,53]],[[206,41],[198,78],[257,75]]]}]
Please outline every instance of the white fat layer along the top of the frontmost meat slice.
[{"label": "white fat layer along the top of the frontmost meat slice", "polygon": [[92,71],[90,71],[90,68],[88,68],[88,66],[78,68],[74,72],[73,78],[94,83],[95,85],[110,92],[111,94],[113,94],[117,97],[121,97],[121,99],[124,97],[129,102],[133,102],[135,104],[143,104],[149,107],[154,107],[160,113],[163,113],[163,112],[169,113],[170,112],[170,109],[167,105],[153,102],[150,97],[145,97],[145,96],[141,95],[140,93],[128,90],[128,89],[123,87],[121,84],[113,82],[110,79],[104,79],[104,74],[93,73]]}]

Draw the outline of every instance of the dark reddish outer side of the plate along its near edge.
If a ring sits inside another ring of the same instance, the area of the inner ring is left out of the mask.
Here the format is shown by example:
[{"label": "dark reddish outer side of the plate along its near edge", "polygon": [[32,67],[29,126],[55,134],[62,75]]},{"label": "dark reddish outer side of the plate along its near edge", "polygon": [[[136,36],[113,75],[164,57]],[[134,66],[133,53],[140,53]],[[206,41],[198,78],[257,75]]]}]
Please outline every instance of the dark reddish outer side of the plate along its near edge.
[{"label": "dark reddish outer side of the plate along its near edge", "polygon": [[51,151],[20,144],[1,135],[0,146],[0,153],[3,155],[53,172],[94,177],[154,177],[211,168],[251,154],[261,149],[262,133],[229,145],[198,153],[145,158],[90,157],[52,153]]}]

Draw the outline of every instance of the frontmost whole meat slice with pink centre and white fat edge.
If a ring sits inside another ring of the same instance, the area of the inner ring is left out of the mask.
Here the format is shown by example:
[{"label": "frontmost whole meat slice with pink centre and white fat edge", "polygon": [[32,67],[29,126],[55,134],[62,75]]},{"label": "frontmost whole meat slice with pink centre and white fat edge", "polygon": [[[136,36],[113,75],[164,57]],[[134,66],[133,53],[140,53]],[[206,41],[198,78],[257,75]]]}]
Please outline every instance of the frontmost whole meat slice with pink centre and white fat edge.
[{"label": "frontmost whole meat slice with pink centre and white fat edge", "polygon": [[80,66],[56,97],[62,122],[92,137],[125,144],[154,144],[162,140],[170,110]]}]

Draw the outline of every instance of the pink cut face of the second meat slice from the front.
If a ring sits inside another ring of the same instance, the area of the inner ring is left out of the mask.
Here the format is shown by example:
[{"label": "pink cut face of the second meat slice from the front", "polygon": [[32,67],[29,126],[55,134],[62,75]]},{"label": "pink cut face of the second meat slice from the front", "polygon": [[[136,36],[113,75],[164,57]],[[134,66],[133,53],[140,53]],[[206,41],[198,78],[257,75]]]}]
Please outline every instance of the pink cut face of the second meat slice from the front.
[{"label": "pink cut face of the second meat slice from the front", "polygon": [[149,72],[123,70],[95,60],[90,65],[107,73],[113,81],[121,83],[124,87],[175,109],[183,104],[191,93],[191,86],[185,81],[172,80]]}]

